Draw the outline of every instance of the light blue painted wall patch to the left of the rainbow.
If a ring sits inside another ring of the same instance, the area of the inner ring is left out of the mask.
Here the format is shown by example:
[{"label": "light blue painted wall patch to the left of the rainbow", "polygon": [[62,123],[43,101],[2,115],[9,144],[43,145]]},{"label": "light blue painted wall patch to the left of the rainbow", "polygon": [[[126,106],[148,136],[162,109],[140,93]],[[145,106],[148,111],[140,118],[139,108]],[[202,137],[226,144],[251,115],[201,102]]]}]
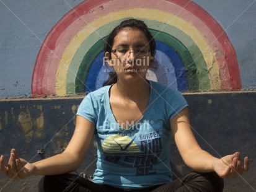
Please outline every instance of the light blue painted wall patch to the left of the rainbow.
[{"label": "light blue painted wall patch to the left of the rainbow", "polygon": [[80,2],[0,1],[0,98],[31,95],[33,68],[46,35]]}]

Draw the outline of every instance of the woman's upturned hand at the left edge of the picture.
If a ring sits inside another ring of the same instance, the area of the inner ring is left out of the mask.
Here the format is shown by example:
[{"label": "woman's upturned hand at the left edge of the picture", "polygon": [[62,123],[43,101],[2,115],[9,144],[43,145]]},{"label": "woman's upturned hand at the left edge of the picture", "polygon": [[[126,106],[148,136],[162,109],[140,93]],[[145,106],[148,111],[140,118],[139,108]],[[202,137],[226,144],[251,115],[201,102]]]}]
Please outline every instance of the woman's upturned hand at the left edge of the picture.
[{"label": "woman's upturned hand at the left edge of the picture", "polygon": [[32,175],[35,167],[26,160],[20,159],[15,149],[11,149],[11,155],[7,167],[4,165],[4,156],[0,157],[0,170],[11,180],[21,180]]}]

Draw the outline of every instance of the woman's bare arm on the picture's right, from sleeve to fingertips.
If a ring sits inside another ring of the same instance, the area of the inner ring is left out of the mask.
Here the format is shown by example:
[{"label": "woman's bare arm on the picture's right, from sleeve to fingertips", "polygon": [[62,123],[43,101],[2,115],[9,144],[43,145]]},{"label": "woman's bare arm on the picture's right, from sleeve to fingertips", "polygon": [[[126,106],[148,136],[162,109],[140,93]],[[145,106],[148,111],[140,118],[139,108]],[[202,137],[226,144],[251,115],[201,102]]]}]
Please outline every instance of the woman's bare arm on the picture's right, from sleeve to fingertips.
[{"label": "woman's bare arm on the picture's right, from sleeve to fingertips", "polygon": [[185,164],[197,172],[218,173],[223,178],[235,178],[249,170],[249,159],[245,157],[244,167],[239,152],[218,159],[201,149],[193,135],[188,108],[183,109],[170,121],[170,128]]}]

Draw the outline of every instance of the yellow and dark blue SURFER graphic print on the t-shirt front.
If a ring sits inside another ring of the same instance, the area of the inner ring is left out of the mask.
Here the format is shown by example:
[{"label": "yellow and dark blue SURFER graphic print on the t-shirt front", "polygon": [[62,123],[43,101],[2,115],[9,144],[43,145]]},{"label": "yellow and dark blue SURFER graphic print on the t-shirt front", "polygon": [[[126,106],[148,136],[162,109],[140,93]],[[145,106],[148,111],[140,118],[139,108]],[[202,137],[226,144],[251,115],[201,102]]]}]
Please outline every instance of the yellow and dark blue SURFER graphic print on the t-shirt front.
[{"label": "yellow and dark blue SURFER graphic print on the t-shirt front", "polygon": [[162,143],[159,131],[131,137],[115,134],[107,137],[101,148],[106,155],[105,160],[122,167],[136,168],[136,175],[143,176],[156,174],[153,165],[158,162]]}]

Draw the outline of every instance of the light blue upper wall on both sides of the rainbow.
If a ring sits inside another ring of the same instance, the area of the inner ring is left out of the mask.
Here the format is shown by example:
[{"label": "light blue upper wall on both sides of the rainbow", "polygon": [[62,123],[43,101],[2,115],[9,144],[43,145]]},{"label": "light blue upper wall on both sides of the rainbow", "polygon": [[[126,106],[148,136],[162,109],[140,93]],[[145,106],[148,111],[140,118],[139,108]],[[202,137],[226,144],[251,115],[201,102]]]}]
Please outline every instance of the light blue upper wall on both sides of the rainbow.
[{"label": "light blue upper wall on both sides of the rainbow", "polygon": [[[194,0],[226,30],[237,53],[244,90],[256,89],[256,2]],[[82,2],[0,1],[0,98],[29,97],[38,51],[51,28]]]}]

